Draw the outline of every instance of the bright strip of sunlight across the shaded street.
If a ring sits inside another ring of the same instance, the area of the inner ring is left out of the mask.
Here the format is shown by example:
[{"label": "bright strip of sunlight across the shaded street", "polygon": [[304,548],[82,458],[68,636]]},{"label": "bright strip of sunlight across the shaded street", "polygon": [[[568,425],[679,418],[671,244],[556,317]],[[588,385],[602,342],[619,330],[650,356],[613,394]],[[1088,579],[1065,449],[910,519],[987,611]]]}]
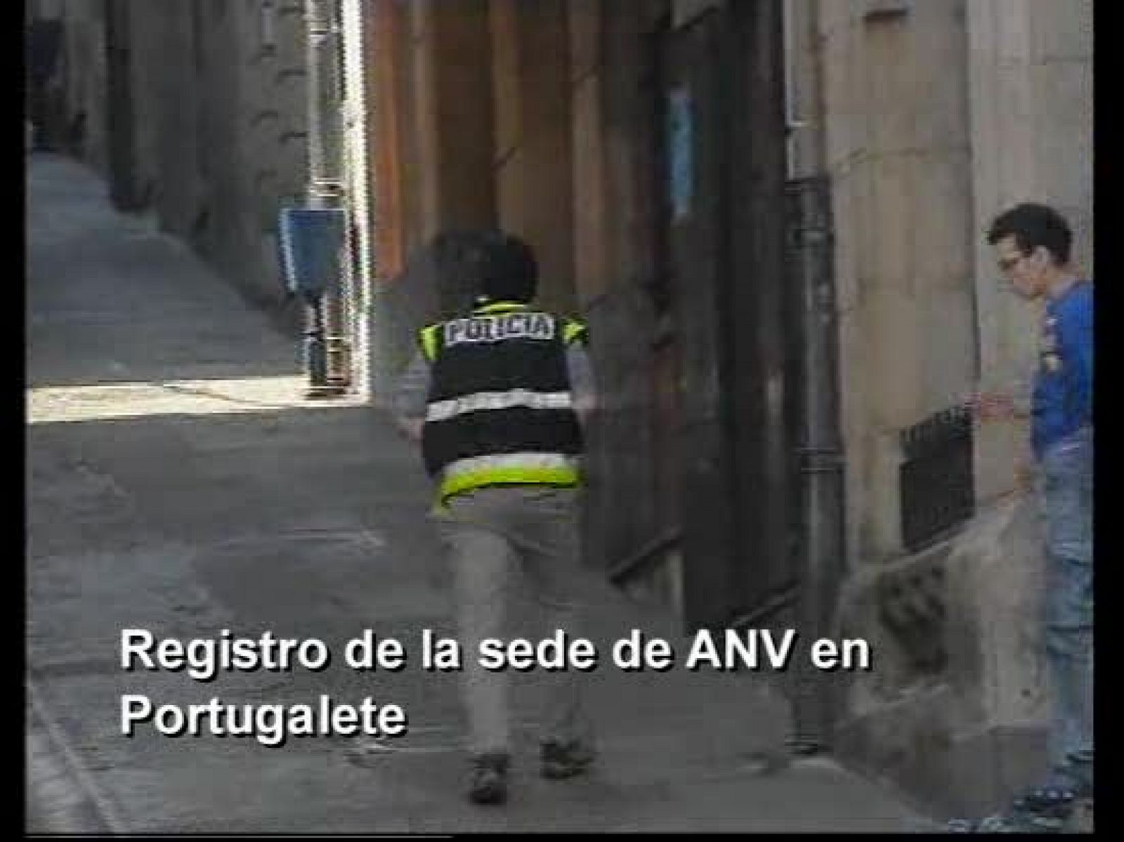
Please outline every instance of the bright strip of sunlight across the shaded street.
[{"label": "bright strip of sunlight across the shaded street", "polygon": [[111,420],[155,415],[229,415],[362,406],[361,395],[309,398],[307,375],[47,386],[27,390],[27,423]]}]

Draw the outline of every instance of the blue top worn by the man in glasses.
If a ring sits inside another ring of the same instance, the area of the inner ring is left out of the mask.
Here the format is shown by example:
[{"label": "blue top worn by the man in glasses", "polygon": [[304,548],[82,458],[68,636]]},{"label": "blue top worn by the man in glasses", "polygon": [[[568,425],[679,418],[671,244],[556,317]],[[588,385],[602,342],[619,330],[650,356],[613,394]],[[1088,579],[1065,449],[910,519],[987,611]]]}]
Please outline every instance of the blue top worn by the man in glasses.
[{"label": "blue top worn by the man in glasses", "polygon": [[1093,423],[1091,281],[1078,281],[1046,304],[1031,411],[1031,444],[1039,454]]}]

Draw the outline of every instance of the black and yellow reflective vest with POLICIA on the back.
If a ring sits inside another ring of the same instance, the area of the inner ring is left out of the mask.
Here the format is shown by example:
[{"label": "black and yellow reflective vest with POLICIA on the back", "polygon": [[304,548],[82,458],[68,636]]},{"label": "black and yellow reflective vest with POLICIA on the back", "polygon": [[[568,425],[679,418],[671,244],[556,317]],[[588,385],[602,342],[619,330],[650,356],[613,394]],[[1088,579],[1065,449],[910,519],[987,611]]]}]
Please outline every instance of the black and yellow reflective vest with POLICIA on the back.
[{"label": "black and yellow reflective vest with POLICIA on the back", "polygon": [[582,323],[498,302],[422,329],[432,365],[422,454],[442,503],[484,486],[577,486],[566,346]]}]

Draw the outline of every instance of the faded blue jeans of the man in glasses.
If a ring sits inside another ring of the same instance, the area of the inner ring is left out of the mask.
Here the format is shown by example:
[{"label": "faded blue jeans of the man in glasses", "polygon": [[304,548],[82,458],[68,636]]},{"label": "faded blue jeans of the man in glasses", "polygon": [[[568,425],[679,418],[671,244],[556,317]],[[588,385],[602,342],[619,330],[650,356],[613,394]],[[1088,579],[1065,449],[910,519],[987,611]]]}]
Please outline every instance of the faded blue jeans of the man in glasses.
[{"label": "faded blue jeans of the man in glasses", "polygon": [[1093,784],[1093,429],[1040,458],[1046,526],[1044,635],[1054,686],[1051,786]]}]

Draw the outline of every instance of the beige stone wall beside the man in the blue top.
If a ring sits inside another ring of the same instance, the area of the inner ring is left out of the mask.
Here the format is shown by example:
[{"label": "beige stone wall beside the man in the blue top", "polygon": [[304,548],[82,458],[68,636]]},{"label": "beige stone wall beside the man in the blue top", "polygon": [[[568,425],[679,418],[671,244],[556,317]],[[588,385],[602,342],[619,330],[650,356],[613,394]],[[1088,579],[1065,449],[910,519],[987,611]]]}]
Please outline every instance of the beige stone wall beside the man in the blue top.
[{"label": "beige stone wall beside the man in the blue top", "polygon": [[839,745],[940,809],[981,812],[1044,760],[1042,524],[1034,498],[1005,496],[1026,428],[973,426],[978,514],[913,555],[897,434],[979,383],[1026,384],[1035,313],[994,268],[995,214],[1058,206],[1088,265],[1091,3],[828,0],[816,13],[849,467],[839,623],[876,652],[849,681]]}]

